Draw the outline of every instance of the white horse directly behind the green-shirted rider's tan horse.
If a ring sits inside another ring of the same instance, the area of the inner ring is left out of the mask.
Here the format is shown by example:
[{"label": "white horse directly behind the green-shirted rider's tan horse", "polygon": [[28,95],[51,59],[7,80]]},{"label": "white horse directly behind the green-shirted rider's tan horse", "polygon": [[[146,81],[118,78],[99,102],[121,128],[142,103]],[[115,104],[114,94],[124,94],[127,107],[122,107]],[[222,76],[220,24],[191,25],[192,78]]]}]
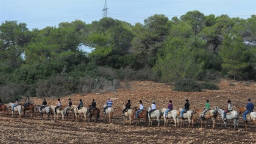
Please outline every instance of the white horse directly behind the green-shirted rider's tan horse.
[{"label": "white horse directly behind the green-shirted rider's tan horse", "polygon": [[[215,107],[215,109],[219,112],[219,114],[222,117],[222,120],[224,122],[225,128],[226,128],[226,120],[223,119],[224,117],[224,109],[218,108],[218,106]],[[233,120],[234,123],[234,129],[238,128],[238,112],[237,111],[231,111],[229,115],[227,115],[227,120]]]}]

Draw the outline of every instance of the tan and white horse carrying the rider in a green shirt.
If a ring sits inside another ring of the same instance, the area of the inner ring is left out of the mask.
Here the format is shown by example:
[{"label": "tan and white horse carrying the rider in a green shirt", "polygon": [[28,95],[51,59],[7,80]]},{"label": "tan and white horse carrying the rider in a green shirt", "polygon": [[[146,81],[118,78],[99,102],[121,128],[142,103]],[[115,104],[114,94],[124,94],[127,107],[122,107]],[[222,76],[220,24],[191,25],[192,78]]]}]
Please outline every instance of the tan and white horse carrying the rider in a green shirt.
[{"label": "tan and white horse carrying the rider in a green shirt", "polygon": [[[202,114],[202,109],[196,109],[194,108],[194,111],[196,112],[196,114],[199,115],[199,117],[201,117],[201,114]],[[215,128],[215,120],[216,118],[218,117],[218,112],[216,109],[213,109],[213,110],[208,110],[204,113],[204,120],[202,118],[200,118],[201,120],[201,128],[202,128],[202,123],[204,122],[204,126],[206,128],[206,120],[210,120],[212,118],[212,121],[213,121],[213,126],[212,126],[212,129]]]}]

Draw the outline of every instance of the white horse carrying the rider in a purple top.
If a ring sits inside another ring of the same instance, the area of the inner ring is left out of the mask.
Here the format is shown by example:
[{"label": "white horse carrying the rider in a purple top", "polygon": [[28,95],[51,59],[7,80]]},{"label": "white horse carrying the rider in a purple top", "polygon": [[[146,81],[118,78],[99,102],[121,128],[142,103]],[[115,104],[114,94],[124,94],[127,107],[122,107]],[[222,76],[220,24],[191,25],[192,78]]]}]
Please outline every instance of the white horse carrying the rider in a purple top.
[{"label": "white horse carrying the rider in a purple top", "polygon": [[161,109],[161,112],[163,113],[163,119],[165,120],[165,127],[167,126],[168,124],[168,118],[173,118],[174,120],[174,123],[175,123],[175,128],[176,128],[176,122],[178,123],[178,126],[179,126],[179,115],[180,115],[180,112],[177,111],[177,110],[171,110],[167,113],[167,117],[166,118],[166,115],[165,115],[165,111],[166,111],[166,108],[162,108]]}]

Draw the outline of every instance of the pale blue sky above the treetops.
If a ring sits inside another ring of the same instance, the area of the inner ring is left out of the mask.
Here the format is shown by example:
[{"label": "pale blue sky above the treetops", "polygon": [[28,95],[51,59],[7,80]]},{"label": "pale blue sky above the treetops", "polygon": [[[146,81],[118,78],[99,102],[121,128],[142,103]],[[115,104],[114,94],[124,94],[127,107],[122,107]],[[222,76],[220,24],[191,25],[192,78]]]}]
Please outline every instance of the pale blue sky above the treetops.
[{"label": "pale blue sky above the treetops", "polygon": [[[25,22],[30,30],[58,26],[60,22],[80,19],[87,24],[99,21],[105,0],[0,0],[0,22]],[[204,15],[229,15],[250,18],[256,15],[256,0],[107,0],[107,16],[129,22],[144,23],[154,14],[169,19],[198,10]]]}]

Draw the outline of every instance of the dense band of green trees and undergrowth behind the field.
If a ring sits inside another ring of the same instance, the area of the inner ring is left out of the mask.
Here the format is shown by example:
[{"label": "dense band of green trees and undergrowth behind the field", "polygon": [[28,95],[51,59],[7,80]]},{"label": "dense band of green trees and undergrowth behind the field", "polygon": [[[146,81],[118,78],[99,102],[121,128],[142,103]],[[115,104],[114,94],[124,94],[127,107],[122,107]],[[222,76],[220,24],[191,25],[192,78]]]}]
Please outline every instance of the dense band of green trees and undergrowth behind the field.
[{"label": "dense band of green trees and undergrowth behind the field", "polygon": [[[90,47],[91,53],[83,50]],[[255,80],[256,16],[187,12],[132,26],[113,18],[29,30],[0,26],[0,98],[115,91],[119,81]]]}]

